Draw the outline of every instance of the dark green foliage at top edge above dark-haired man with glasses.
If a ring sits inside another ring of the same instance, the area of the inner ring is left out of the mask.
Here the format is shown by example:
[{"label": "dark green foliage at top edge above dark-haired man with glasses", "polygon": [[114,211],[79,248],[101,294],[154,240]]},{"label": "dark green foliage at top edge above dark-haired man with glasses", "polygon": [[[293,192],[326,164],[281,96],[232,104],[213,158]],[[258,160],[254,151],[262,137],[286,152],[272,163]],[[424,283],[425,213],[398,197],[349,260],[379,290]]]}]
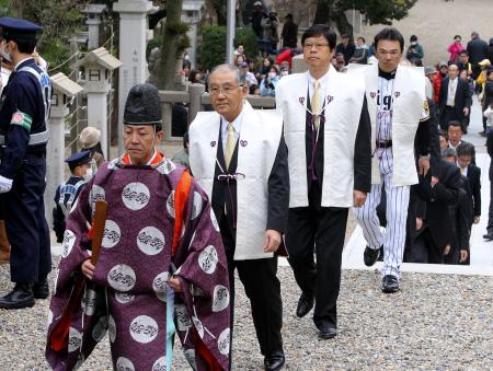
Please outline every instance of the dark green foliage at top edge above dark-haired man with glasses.
[{"label": "dark green foliage at top edge above dark-haired man with glasses", "polygon": [[370,24],[392,24],[402,20],[417,0],[317,0],[313,24],[334,26],[340,33],[353,36],[353,26],[345,11],[356,9],[366,15]]}]

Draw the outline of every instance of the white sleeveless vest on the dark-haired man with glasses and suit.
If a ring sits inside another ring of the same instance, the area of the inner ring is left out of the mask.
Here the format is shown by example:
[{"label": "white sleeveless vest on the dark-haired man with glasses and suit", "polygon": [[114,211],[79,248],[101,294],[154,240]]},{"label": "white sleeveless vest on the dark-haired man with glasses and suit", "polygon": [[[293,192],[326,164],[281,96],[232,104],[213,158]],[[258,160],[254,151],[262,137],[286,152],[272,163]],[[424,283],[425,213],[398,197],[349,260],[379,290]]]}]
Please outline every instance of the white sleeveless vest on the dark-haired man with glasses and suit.
[{"label": "white sleeveless vest on the dark-haired man with glasses and suit", "polygon": [[[277,109],[283,113],[289,150],[289,207],[308,207],[306,125],[308,72],[280,79]],[[354,147],[365,97],[363,79],[340,73],[331,66],[323,126],[322,207],[352,207]],[[323,97],[322,97],[323,98]]]}]

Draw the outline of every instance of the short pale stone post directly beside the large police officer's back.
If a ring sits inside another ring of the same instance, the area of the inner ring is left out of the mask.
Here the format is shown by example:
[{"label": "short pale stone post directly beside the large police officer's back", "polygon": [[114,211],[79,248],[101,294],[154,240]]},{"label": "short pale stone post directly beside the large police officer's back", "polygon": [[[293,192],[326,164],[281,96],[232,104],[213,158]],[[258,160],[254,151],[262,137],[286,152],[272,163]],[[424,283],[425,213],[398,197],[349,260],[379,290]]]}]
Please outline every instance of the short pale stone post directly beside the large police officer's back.
[{"label": "short pale stone post directly beside the large police officer's back", "polygon": [[46,158],[45,217],[51,229],[54,197],[58,185],[65,181],[65,117],[69,114],[66,105],[49,111],[49,141]]}]

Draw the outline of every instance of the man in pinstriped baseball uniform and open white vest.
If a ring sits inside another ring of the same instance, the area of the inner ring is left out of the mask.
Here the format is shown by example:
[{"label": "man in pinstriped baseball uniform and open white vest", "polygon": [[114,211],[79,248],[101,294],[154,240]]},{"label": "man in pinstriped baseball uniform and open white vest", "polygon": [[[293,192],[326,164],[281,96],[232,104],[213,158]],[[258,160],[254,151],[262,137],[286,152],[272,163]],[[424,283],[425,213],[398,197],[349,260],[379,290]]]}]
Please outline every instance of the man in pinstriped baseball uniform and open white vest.
[{"label": "man in pinstriped baseball uniform and open white vest", "polygon": [[[410,188],[419,183],[415,144],[420,173],[426,175],[429,169],[429,109],[423,72],[399,65],[404,49],[401,33],[383,28],[375,36],[375,49],[378,65],[358,70],[366,80],[372,166],[371,192],[355,215],[367,241],[364,253],[367,266],[375,264],[383,246],[381,290],[390,293],[399,290]],[[382,185],[387,195],[385,233],[380,231],[376,211]]]}]

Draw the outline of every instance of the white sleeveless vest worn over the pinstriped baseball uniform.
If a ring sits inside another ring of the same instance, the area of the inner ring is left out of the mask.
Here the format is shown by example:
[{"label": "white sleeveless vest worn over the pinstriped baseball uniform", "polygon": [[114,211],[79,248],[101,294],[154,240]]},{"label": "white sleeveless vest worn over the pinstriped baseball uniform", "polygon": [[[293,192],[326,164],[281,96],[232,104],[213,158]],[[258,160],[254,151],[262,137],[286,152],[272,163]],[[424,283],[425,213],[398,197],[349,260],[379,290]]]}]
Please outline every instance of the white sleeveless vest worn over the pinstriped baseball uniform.
[{"label": "white sleeveless vest worn over the pinstriped baseball uniform", "polygon": [[[375,153],[377,136],[378,63],[358,68],[366,81],[366,98],[371,120],[371,153]],[[415,67],[399,66],[395,71],[392,93],[392,186],[417,183],[414,160],[414,138],[426,105],[425,76]],[[371,184],[380,184],[378,158],[371,159]]]}]

